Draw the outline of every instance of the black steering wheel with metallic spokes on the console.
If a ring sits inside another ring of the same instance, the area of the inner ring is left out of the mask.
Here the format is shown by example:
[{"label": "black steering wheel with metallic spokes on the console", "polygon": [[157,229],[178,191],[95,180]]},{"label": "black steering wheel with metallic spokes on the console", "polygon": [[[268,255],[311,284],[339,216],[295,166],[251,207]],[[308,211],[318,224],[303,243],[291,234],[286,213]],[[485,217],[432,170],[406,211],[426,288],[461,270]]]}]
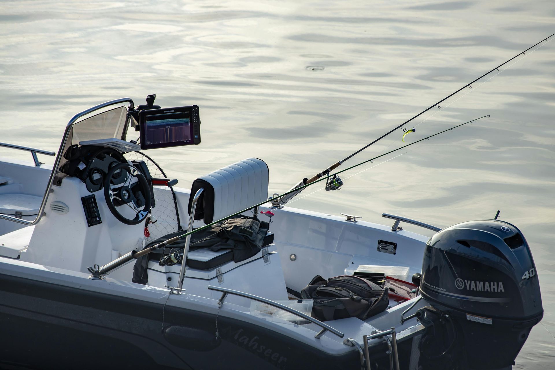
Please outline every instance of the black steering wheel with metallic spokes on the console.
[{"label": "black steering wheel with metallic spokes on the console", "polygon": [[[122,171],[127,171],[129,174],[123,184],[116,180],[121,178]],[[133,179],[137,179],[137,181],[133,183]],[[114,217],[127,225],[137,225],[142,222],[147,217],[152,203],[152,194],[150,194],[147,179],[138,169],[128,163],[119,163],[108,171],[104,179],[104,197],[108,209]],[[118,207],[123,206],[132,210],[135,215],[133,219],[127,218],[118,211]]]}]

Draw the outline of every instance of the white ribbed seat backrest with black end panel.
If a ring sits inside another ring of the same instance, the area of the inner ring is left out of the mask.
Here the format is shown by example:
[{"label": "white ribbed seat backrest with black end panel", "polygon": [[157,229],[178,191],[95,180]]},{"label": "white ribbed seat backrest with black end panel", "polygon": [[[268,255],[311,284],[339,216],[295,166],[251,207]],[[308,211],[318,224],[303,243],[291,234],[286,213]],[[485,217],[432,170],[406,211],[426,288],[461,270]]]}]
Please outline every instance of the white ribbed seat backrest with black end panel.
[{"label": "white ribbed seat backrest with black end panel", "polygon": [[204,192],[196,206],[195,219],[204,218],[204,223],[209,224],[268,200],[268,178],[268,165],[258,158],[244,159],[200,176],[191,187],[189,215],[193,196],[201,187]]}]

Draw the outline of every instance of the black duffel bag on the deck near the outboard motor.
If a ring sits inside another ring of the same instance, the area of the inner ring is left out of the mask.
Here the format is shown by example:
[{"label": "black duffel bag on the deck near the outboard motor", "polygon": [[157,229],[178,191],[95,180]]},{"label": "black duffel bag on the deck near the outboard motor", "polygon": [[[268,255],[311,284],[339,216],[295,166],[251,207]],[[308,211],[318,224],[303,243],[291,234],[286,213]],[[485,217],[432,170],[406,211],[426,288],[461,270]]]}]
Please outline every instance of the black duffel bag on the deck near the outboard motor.
[{"label": "black duffel bag on the deck near the outboard motor", "polygon": [[314,300],[312,316],[320,321],[347,317],[366,320],[389,304],[387,288],[353,275],[330,277],[327,281],[318,275],[301,291],[301,298]]}]

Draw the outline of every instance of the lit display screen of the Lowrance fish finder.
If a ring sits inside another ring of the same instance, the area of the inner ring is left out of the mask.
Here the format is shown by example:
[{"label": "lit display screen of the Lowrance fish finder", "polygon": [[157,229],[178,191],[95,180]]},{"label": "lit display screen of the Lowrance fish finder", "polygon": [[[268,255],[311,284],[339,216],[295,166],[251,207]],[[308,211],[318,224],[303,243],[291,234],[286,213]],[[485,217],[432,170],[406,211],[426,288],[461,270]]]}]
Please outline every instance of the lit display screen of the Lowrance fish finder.
[{"label": "lit display screen of the Lowrance fish finder", "polygon": [[147,115],[145,123],[145,144],[147,145],[175,143],[176,141],[183,145],[191,140],[188,111]]}]

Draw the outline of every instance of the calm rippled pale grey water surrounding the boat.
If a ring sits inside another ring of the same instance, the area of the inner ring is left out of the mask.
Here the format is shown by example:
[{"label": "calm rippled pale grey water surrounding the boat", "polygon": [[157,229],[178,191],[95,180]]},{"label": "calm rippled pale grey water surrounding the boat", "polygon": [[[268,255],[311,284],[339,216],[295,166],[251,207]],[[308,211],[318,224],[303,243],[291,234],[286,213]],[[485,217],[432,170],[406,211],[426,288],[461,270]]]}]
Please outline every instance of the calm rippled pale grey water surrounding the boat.
[{"label": "calm rippled pale grey water surrounding the boat", "polygon": [[[201,145],[148,153],[180,186],[256,156],[280,192],[555,32],[555,3],[17,1],[0,3],[0,22],[2,141],[54,151],[78,111],[155,93],[200,106]],[[491,118],[291,205],[438,226],[500,209],[532,246],[545,310],[515,368],[543,369],[555,359],[555,43],[527,54],[406,140]],[[379,144],[349,163],[401,133]]]}]

